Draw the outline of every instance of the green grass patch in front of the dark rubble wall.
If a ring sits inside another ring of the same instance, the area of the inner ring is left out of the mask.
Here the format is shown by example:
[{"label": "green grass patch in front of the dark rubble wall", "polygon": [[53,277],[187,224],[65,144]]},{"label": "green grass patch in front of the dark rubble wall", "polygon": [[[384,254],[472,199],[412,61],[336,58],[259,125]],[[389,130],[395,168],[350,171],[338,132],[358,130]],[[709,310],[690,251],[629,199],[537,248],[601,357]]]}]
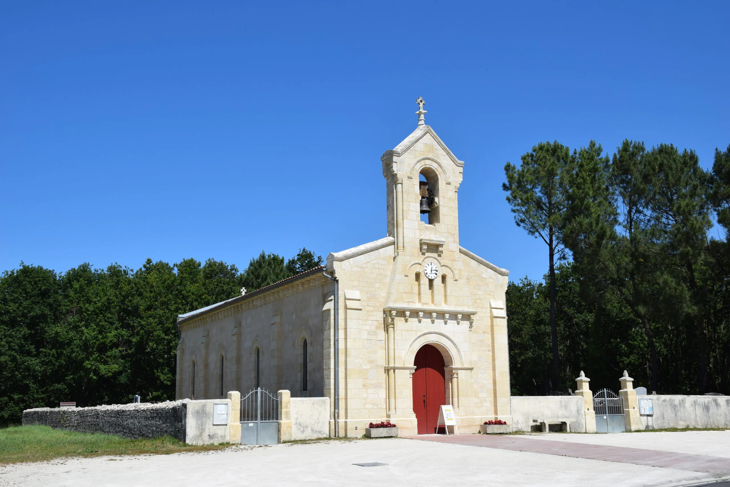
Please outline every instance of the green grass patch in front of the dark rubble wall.
[{"label": "green grass patch in front of the dark rubble wall", "polygon": [[11,426],[0,429],[0,465],[60,457],[169,454],[228,448],[220,445],[186,445],[172,437],[129,440],[113,434],[77,433],[49,426]]}]

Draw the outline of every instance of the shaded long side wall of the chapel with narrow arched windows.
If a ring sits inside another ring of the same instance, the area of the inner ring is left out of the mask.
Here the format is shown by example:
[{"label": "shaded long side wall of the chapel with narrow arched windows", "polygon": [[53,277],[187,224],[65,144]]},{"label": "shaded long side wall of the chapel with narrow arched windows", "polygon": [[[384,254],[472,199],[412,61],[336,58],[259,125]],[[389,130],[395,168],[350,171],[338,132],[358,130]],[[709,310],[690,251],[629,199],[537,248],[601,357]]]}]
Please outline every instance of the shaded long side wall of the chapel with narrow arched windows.
[{"label": "shaded long side wall of the chapel with narrow arched windows", "polygon": [[[301,290],[299,286],[301,285]],[[293,292],[293,288],[297,292]],[[262,388],[282,388],[293,397],[324,395],[324,329],[322,307],[334,285],[321,275],[295,281],[288,291],[276,288],[198,321],[182,323],[178,348],[177,398],[225,398],[228,391],[247,393],[256,386],[255,348],[259,348]],[[253,301],[255,300],[255,303]],[[247,304],[246,304],[247,303]],[[302,339],[307,338],[307,391],[302,391]],[[223,354],[223,395],[220,355]]]}]

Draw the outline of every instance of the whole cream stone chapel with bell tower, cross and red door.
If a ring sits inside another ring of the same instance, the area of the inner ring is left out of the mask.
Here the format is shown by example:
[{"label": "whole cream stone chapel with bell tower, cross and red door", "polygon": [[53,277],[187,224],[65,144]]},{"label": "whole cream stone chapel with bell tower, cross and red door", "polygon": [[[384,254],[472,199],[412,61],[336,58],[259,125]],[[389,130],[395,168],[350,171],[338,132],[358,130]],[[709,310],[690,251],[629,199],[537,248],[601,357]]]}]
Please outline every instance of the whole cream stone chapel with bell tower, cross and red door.
[{"label": "whole cream stone chapel with bell tower, cross and red door", "polygon": [[328,396],[333,437],[371,421],[433,434],[442,404],[460,433],[512,423],[508,272],[461,247],[464,161],[425,124],[423,99],[418,108],[415,131],[380,158],[387,236],[180,315],[177,399],[256,387]]}]

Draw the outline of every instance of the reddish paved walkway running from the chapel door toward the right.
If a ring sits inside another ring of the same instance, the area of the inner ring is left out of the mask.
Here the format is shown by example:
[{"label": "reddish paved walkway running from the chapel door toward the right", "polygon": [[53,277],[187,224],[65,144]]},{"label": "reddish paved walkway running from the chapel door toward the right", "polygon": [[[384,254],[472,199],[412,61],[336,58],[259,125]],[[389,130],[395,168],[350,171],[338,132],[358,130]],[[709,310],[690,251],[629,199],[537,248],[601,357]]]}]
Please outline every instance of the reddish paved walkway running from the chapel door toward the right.
[{"label": "reddish paved walkway running from the chapel door toward the right", "polygon": [[[642,433],[633,433],[639,442]],[[652,434],[652,433],[645,433]],[[577,436],[577,435],[576,435]],[[610,445],[591,445],[582,442],[537,440],[520,436],[496,436],[491,434],[442,435],[424,434],[408,437],[412,440],[423,440],[457,445],[499,448],[500,450],[529,451],[547,455],[572,456],[577,459],[618,461],[624,464],[647,465],[692,472],[706,472],[716,475],[730,475],[730,459],[720,456],[694,455],[672,451],[648,450],[645,448],[626,448]]]}]

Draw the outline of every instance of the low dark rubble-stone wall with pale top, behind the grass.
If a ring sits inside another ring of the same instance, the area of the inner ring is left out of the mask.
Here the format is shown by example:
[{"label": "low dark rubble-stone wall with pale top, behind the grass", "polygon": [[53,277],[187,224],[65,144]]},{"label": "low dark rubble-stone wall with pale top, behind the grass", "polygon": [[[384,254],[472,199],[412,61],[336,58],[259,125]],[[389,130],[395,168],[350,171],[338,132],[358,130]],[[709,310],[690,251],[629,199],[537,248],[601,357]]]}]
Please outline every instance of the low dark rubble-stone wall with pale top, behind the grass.
[{"label": "low dark rubble-stone wall with pale top, behind the grass", "polygon": [[190,399],[150,404],[94,407],[38,407],[23,411],[23,425],[42,424],[81,433],[117,434],[126,438],[171,436],[185,442]]}]

